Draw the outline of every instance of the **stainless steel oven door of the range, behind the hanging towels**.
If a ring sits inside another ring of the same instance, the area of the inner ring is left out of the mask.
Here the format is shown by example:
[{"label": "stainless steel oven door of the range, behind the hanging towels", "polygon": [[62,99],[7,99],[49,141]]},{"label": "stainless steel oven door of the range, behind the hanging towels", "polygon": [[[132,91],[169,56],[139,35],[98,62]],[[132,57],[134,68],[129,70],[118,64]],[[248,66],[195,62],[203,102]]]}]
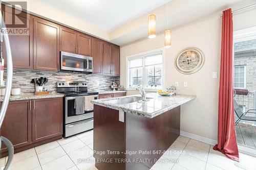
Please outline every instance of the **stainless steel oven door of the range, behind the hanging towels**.
[{"label": "stainless steel oven door of the range, behind the hanging towels", "polygon": [[[85,95],[85,97],[89,97],[90,95]],[[93,95],[93,99],[98,99],[98,95]],[[78,122],[80,120],[93,118],[93,108],[87,109],[84,111],[84,114],[75,114],[76,109],[75,106],[75,96],[70,96],[65,98],[65,124],[70,124],[74,122]]]}]

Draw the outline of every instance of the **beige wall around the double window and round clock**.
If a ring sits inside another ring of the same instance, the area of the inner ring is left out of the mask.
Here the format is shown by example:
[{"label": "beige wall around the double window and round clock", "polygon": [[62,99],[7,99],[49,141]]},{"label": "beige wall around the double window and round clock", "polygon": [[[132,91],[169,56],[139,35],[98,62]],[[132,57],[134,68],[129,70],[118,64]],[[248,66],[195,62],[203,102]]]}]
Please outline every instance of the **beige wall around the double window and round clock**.
[{"label": "beige wall around the double window and round clock", "polygon": [[[254,11],[255,12],[255,11]],[[250,14],[254,12],[249,12]],[[243,15],[243,16],[242,16]],[[248,13],[234,15],[234,26],[238,26]],[[252,15],[252,16],[255,16]],[[252,20],[251,20],[252,21]],[[245,21],[243,21],[244,23]],[[249,24],[251,26],[251,23]],[[248,26],[249,26],[248,25]],[[254,23],[254,25],[256,25]],[[121,46],[121,84],[126,85],[125,58],[126,56],[163,47],[163,33],[155,39],[142,39]],[[183,75],[174,66],[176,55],[185,47],[200,48],[205,55],[204,66],[192,75]],[[172,47],[165,49],[165,87],[179,82],[178,92],[196,94],[194,101],[181,107],[181,130],[202,137],[217,140],[218,124],[218,90],[220,75],[221,51],[221,18],[214,14],[206,19],[189,23],[172,30]],[[212,72],[218,72],[218,79],[212,78]],[[188,82],[188,87],[183,87]],[[137,93],[128,91],[128,94]]]}]

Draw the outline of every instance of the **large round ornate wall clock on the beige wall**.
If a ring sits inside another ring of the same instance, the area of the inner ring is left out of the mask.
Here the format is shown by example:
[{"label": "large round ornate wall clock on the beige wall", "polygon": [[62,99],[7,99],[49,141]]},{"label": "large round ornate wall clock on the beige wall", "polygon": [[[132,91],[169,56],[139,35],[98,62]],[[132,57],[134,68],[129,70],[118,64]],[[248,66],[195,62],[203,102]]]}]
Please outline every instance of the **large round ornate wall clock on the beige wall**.
[{"label": "large round ornate wall clock on the beige wall", "polygon": [[204,64],[204,54],[195,47],[182,50],[175,58],[175,67],[182,74],[193,74]]}]

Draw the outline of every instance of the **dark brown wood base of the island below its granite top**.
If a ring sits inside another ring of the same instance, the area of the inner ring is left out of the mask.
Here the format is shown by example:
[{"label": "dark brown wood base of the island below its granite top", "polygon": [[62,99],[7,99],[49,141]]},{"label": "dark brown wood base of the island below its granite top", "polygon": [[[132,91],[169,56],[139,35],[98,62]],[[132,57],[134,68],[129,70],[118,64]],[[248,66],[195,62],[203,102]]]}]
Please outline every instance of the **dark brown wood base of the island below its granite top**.
[{"label": "dark brown wood base of the island below its granite top", "polygon": [[[113,161],[96,161],[95,166],[99,170],[150,170],[179,135],[180,106],[153,118],[124,113],[124,122],[120,122],[119,110],[94,105],[94,157]],[[119,154],[107,150],[118,151]],[[100,151],[105,154],[97,154]],[[129,155],[125,151],[136,153]],[[126,162],[120,162],[124,158]],[[146,161],[148,159],[151,161]]]}]

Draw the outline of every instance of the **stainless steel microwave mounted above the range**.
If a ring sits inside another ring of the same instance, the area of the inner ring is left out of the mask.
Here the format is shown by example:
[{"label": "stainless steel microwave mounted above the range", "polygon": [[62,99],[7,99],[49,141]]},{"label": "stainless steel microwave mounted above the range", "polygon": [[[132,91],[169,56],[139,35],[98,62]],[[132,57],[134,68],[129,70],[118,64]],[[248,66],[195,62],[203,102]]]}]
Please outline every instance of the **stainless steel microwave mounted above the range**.
[{"label": "stainless steel microwave mounted above the range", "polygon": [[68,52],[60,52],[60,70],[93,72],[93,58]]}]

